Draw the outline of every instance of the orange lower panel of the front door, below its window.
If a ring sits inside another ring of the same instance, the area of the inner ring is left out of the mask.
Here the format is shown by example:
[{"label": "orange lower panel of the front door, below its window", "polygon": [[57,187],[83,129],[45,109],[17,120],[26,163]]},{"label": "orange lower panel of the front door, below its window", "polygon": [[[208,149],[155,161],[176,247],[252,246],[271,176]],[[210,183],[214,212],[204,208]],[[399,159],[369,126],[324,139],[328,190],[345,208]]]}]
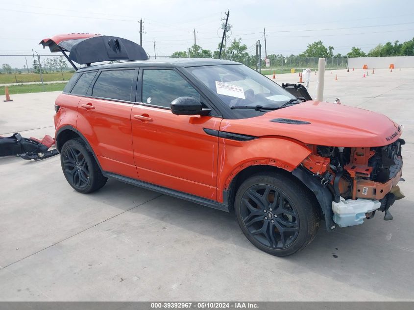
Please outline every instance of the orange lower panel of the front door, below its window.
[{"label": "orange lower panel of the front door, below its window", "polygon": [[210,116],[177,116],[168,109],[134,105],[132,141],[140,180],[216,200],[219,138],[203,128],[219,130],[220,122]]}]

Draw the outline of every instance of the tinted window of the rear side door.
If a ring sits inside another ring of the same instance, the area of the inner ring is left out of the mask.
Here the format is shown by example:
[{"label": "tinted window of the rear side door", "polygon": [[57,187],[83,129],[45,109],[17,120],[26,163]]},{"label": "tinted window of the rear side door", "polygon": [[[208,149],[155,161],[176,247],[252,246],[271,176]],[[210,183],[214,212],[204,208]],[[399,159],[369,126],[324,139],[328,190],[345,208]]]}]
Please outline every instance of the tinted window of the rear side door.
[{"label": "tinted window of the rear side door", "polygon": [[92,95],[94,97],[132,101],[131,90],[136,75],[135,70],[102,71],[95,82]]}]

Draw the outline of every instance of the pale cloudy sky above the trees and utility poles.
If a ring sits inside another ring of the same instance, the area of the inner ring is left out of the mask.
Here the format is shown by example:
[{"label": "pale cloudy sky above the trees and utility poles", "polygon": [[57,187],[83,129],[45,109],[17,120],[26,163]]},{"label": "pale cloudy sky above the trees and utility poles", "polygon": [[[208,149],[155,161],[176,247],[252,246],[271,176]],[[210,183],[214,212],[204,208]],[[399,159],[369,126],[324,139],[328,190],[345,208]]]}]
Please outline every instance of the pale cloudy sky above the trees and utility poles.
[{"label": "pale cloudy sky above the trees and utility poles", "polygon": [[[1,0],[3,25],[0,55],[42,50],[41,39],[67,32],[120,36],[157,56],[186,50],[194,43],[214,50],[220,19],[230,10],[233,38],[242,38],[251,53],[267,31],[268,54],[297,54],[317,40],[346,54],[357,46],[369,51],[379,43],[414,37],[414,1],[384,0]],[[264,48],[264,44],[263,44]],[[43,51],[43,50],[42,50]],[[45,50],[46,51],[46,50]],[[263,49],[264,54],[264,49]]]}]

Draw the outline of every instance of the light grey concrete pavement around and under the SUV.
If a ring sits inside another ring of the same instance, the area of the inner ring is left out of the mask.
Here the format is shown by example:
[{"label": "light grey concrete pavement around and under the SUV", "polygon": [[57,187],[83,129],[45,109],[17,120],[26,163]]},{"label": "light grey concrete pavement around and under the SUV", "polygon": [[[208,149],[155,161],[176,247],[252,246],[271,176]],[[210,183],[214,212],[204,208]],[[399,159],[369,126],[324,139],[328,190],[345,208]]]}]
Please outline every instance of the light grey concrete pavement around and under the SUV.
[{"label": "light grey concrete pavement around and under the SUV", "polygon": [[[113,180],[84,195],[67,184],[58,156],[0,158],[0,300],[414,300],[414,69],[371,72],[326,72],[325,100],[402,126],[407,197],[390,209],[394,220],[378,213],[321,229],[305,250],[277,258],[247,241],[234,214]],[[297,81],[297,73],[276,76]],[[0,135],[53,135],[58,93],[0,102]]]}]

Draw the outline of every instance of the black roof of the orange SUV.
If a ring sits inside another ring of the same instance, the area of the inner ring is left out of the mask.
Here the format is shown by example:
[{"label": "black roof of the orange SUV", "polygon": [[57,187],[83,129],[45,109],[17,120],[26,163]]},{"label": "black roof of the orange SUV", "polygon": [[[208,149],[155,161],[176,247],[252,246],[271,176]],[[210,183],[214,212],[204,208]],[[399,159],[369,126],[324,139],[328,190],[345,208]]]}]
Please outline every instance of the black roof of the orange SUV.
[{"label": "black roof of the orange SUV", "polygon": [[79,72],[97,69],[110,68],[131,68],[131,67],[198,67],[212,65],[240,65],[241,63],[214,59],[214,58],[167,58],[167,59],[148,59],[139,61],[125,61],[112,64],[92,65],[80,68]]}]

